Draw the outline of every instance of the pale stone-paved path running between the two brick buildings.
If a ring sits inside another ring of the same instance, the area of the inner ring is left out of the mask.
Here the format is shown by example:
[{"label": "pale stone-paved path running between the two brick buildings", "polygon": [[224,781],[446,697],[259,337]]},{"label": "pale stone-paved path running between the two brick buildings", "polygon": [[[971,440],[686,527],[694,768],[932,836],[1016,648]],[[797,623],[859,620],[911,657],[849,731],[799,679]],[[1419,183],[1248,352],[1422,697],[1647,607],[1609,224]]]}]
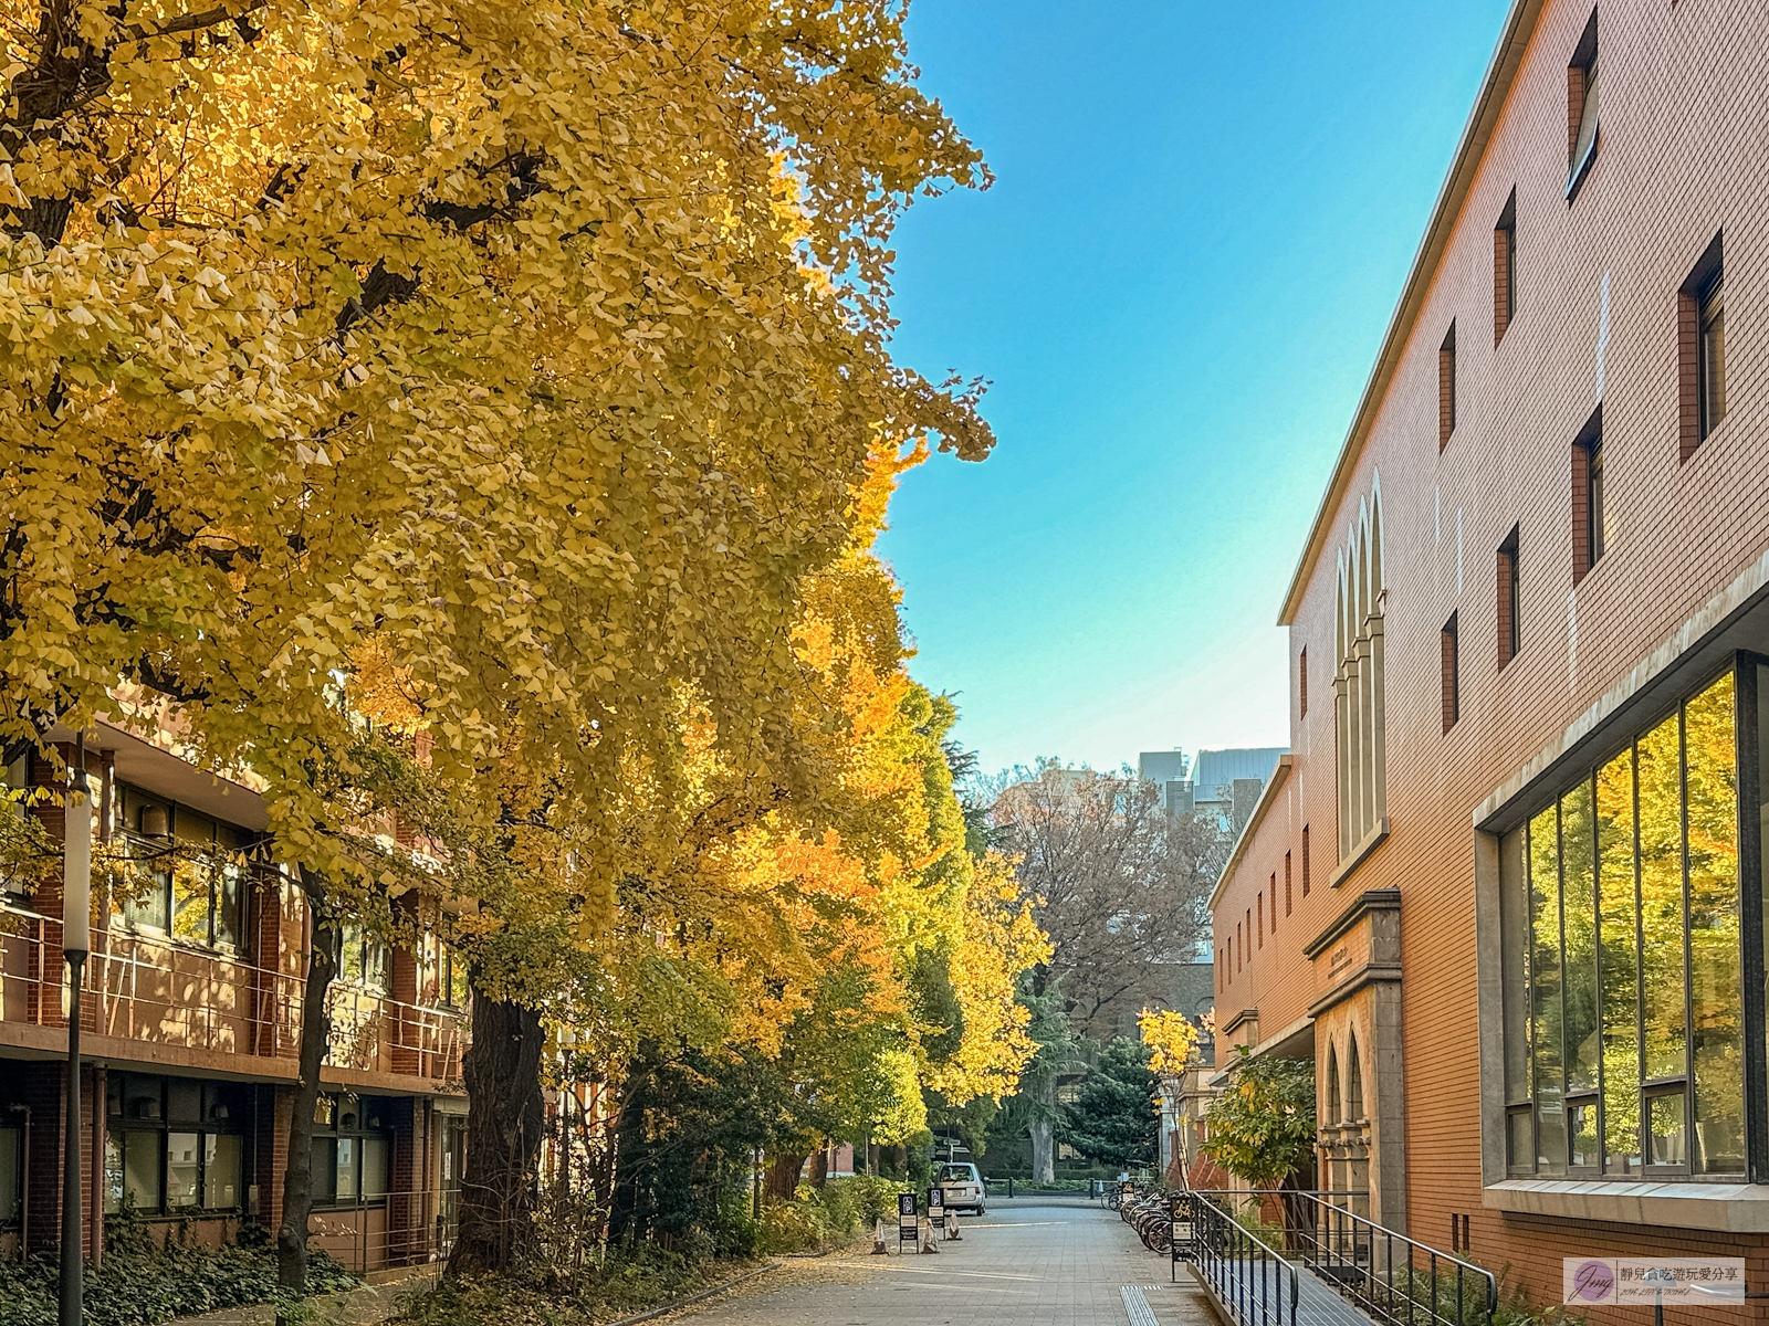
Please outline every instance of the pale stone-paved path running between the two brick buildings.
[{"label": "pale stone-paved path running between the two brick buildings", "polygon": [[[789,1262],[662,1319],[679,1326],[1219,1326],[1187,1269],[1148,1252],[1116,1211],[991,1197],[938,1257]],[[893,1232],[893,1231],[892,1231]],[[895,1238],[890,1239],[895,1248]],[[1125,1292],[1125,1291],[1130,1292]],[[1148,1310],[1143,1305],[1148,1305]]]}]

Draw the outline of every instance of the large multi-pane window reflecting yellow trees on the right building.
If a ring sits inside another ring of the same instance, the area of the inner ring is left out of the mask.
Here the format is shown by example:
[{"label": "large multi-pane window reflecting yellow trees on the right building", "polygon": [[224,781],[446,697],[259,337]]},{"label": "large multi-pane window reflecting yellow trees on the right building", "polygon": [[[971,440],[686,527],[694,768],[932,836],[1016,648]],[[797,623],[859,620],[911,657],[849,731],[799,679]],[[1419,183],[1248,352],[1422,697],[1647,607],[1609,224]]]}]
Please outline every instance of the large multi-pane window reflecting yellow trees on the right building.
[{"label": "large multi-pane window reflecting yellow trees on the right building", "polygon": [[1728,672],[1500,843],[1514,1172],[1744,1174],[1737,785]]}]

